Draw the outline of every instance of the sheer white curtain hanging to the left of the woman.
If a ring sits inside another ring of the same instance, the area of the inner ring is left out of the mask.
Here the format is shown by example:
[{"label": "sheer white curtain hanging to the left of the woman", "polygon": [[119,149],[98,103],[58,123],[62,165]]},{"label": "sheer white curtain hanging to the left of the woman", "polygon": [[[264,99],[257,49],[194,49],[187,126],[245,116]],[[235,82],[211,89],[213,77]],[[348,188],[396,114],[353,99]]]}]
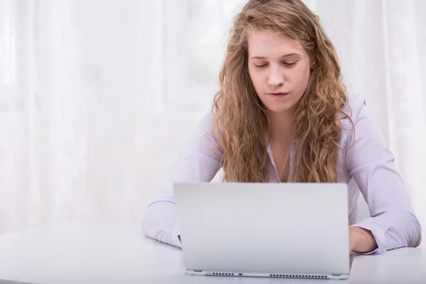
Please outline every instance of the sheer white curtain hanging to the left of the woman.
[{"label": "sheer white curtain hanging to the left of the woman", "polygon": [[141,222],[204,111],[165,104],[163,20],[162,1],[0,1],[0,234]]}]

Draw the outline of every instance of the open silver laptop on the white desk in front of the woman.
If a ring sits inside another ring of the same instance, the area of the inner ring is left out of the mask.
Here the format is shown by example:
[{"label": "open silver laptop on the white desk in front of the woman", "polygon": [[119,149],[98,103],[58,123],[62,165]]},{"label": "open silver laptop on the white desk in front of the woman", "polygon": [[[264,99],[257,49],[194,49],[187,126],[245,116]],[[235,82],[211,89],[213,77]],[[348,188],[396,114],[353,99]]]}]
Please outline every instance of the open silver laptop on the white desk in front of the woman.
[{"label": "open silver laptop on the white desk in front of the woman", "polygon": [[349,278],[345,183],[176,183],[192,275]]}]

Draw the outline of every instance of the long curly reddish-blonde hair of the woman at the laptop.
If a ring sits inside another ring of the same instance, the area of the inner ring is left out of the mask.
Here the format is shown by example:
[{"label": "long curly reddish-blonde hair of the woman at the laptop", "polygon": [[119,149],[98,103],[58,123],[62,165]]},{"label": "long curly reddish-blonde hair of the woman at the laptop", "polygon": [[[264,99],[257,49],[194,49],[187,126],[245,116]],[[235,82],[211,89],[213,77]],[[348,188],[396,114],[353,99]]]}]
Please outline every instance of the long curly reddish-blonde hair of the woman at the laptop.
[{"label": "long curly reddish-blonde hair of the woman at the laptop", "polygon": [[223,151],[222,181],[269,180],[270,123],[248,67],[248,35],[253,30],[299,40],[312,62],[310,81],[293,116],[296,151],[291,180],[337,182],[337,154],[343,151],[339,120],[351,121],[345,113],[349,108],[346,87],[337,53],[320,18],[300,0],[250,0],[234,18],[212,109],[213,131]]}]

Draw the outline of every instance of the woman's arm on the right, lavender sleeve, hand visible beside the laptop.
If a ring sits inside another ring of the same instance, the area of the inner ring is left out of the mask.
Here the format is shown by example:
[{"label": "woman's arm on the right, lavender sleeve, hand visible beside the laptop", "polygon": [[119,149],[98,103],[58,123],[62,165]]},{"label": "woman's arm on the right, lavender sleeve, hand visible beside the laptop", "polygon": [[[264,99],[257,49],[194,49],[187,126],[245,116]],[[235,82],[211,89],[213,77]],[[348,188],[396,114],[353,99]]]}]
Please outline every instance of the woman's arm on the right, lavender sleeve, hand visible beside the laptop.
[{"label": "woman's arm on the right, lavender sleeve, hand visible beside the laptop", "polygon": [[355,129],[346,141],[346,169],[354,177],[371,214],[370,218],[352,225],[364,229],[352,235],[352,246],[356,243],[354,251],[383,253],[418,246],[420,224],[403,179],[395,170],[393,154],[386,147],[376,124],[368,117],[365,104],[354,111],[357,112],[352,116]]}]

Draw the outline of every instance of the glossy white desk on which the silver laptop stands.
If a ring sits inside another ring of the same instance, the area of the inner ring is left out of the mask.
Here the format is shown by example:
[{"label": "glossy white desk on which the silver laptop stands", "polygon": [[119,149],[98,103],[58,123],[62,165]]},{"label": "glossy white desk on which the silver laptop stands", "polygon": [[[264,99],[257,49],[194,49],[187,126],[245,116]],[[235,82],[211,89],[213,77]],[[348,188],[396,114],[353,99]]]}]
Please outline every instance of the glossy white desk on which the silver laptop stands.
[{"label": "glossy white desk on which the silver laptop stands", "polygon": [[0,279],[55,284],[426,283],[426,250],[354,256],[349,280],[192,276],[185,274],[180,249],[148,239],[138,228],[57,224],[0,236]]}]

